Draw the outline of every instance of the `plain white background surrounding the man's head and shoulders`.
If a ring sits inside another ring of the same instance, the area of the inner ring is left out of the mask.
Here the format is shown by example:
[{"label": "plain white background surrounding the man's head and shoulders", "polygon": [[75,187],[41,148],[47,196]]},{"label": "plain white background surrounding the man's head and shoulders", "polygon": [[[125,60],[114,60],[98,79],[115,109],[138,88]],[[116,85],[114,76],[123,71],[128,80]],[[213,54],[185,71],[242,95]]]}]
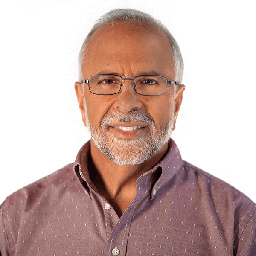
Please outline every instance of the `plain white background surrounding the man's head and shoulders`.
[{"label": "plain white background surrounding the man's head and shoulders", "polygon": [[94,21],[146,11],[172,32],[186,85],[173,138],[184,160],[256,201],[254,0],[26,0],[1,4],[0,201],[75,160],[89,139],[77,57]]}]

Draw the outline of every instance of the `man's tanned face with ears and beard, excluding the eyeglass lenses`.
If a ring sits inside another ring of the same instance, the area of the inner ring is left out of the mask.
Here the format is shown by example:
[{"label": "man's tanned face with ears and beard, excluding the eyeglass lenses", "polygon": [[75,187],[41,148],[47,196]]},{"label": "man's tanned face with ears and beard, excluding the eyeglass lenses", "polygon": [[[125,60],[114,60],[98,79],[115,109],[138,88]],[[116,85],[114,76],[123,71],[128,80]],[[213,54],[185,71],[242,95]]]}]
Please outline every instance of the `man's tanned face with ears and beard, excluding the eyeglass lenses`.
[{"label": "man's tanned face with ears and beard, excluding the eyeglass lenses", "polygon": [[[123,78],[160,75],[174,81],[172,56],[168,38],[156,25],[102,26],[87,46],[83,79],[109,73]],[[134,91],[133,81],[123,80],[118,94],[102,96],[90,93],[87,84],[83,93],[81,86],[76,83],[76,92],[84,124],[93,139],[92,147],[121,165],[140,164],[166,151],[184,87],[175,96],[173,85],[164,95],[142,96]]]}]

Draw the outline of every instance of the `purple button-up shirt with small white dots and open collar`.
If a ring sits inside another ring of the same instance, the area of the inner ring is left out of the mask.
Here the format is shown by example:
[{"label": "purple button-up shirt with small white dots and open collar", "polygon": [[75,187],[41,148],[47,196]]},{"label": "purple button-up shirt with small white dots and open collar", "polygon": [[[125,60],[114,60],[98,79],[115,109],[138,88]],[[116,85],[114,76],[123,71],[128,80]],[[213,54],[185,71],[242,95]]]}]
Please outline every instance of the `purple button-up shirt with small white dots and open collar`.
[{"label": "purple button-up shirt with small white dots and open collar", "polygon": [[163,160],[137,179],[121,218],[91,182],[88,154],[89,142],[75,163],[6,198],[1,256],[256,255],[256,205],[183,161],[173,140]]}]

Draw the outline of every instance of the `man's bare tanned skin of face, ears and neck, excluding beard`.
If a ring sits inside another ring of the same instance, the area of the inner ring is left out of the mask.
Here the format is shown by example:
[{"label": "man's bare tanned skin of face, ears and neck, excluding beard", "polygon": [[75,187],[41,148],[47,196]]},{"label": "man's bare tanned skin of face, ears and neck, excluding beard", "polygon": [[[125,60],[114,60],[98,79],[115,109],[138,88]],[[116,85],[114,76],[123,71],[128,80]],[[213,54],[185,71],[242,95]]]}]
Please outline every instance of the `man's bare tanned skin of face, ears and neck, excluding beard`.
[{"label": "man's bare tanned skin of face, ears and neck, excluding beard", "polygon": [[[134,78],[142,74],[159,74],[174,81],[175,71],[173,52],[165,33],[155,24],[118,22],[114,25],[101,26],[94,32],[86,51],[86,64],[83,69],[84,79],[100,73],[111,73],[123,78]],[[111,96],[100,96],[90,93],[87,84],[75,83],[84,125],[84,95],[89,123],[93,122],[99,129],[102,118],[115,110],[128,113],[131,110],[142,110],[149,113],[157,127],[165,124],[174,114],[174,127],[185,89],[180,85],[174,96],[174,87],[168,87],[161,96],[141,96],[135,93],[132,81],[125,80],[122,90]],[[134,126],[142,124],[115,123],[113,126]],[[113,134],[123,140],[139,138],[147,127],[132,132],[120,131],[109,127],[107,134]],[[90,178],[116,210],[120,217],[136,195],[136,180],[144,172],[154,167],[168,150],[168,143],[144,163],[133,166],[118,165],[102,154],[90,140],[91,161]],[[125,154],[125,148],[122,148]]]}]

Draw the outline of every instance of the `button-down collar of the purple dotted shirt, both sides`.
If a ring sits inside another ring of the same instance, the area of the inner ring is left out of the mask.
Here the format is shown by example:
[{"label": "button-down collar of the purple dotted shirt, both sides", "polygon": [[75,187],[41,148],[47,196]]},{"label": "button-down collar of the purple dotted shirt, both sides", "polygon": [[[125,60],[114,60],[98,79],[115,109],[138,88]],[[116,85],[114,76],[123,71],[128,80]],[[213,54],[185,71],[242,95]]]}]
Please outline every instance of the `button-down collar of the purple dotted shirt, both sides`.
[{"label": "button-down collar of the purple dotted shirt, both sides", "polygon": [[[88,160],[90,155],[90,140],[85,143],[81,149],[79,150],[76,161],[74,162],[74,172],[76,177],[79,180],[79,183],[81,186],[86,189],[86,192],[89,192],[90,189],[93,189],[96,191],[96,187],[90,180],[89,171],[88,171]],[[157,181],[153,184],[151,189],[151,198],[154,198],[154,195],[157,193],[157,191],[164,186],[172,177],[175,175],[175,173],[180,169],[180,166],[182,166],[182,159],[180,156],[180,151],[177,148],[177,145],[175,142],[170,139],[169,140],[169,147],[168,151],[166,152],[166,155],[163,157],[163,159],[157,163],[151,170],[144,172],[143,175],[141,175],[137,179],[137,184],[140,183],[141,189],[143,189],[143,183],[141,180],[145,176],[152,177],[156,170],[161,171],[160,177],[157,179]],[[148,186],[148,184],[145,184],[145,186]]]}]

